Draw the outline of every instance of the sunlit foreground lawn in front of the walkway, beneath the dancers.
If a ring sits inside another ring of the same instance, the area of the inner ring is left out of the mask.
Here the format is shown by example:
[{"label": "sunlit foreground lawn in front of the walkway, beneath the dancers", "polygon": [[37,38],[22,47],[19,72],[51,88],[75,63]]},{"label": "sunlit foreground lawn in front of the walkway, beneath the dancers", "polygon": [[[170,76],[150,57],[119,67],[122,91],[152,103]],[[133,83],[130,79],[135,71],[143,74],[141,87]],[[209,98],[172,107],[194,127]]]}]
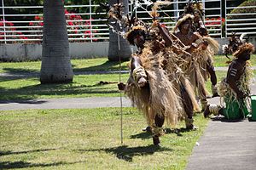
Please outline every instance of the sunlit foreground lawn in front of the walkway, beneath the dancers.
[{"label": "sunlit foreground lawn in front of the walkway, beneath the dancers", "polygon": [[[29,110],[0,113],[1,169],[184,169],[207,120],[195,116],[197,131],[177,131],[152,145],[143,116],[123,109]],[[167,127],[167,126],[166,126]]]}]

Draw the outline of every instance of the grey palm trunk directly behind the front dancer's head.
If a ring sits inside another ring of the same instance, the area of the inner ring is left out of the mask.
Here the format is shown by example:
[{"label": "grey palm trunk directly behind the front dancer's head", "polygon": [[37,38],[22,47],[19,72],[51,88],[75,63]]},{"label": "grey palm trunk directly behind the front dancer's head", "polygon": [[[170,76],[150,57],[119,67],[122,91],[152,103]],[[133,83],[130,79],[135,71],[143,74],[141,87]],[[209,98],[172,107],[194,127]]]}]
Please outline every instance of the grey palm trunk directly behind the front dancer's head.
[{"label": "grey palm trunk directly behind the front dancer's head", "polygon": [[[123,3],[125,14],[128,14],[128,0],[108,0],[109,5],[114,3]],[[124,29],[124,28],[123,28]],[[131,47],[129,43],[121,36],[109,30],[109,46],[108,46],[108,59],[109,60],[129,60],[131,57]]]}]

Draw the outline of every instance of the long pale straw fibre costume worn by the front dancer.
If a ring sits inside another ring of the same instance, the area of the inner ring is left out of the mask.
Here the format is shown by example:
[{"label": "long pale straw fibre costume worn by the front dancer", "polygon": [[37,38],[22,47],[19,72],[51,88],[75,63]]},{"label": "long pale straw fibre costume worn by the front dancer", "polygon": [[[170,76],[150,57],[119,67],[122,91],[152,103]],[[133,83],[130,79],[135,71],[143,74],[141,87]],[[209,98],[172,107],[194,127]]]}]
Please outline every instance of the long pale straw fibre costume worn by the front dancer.
[{"label": "long pale straw fibre costume worn by the front dancer", "polygon": [[143,54],[140,54],[138,57],[141,59],[144,72],[148,77],[148,89],[139,88],[135,81],[137,77],[132,76],[128,80],[125,93],[132,103],[137,105],[139,110],[143,111],[149,125],[153,124],[154,117],[158,114],[164,116],[168,123],[175,126],[178,119],[182,117],[180,114],[181,105],[172,82],[169,81],[169,77],[161,68],[161,56],[153,54],[146,47],[143,49]]}]

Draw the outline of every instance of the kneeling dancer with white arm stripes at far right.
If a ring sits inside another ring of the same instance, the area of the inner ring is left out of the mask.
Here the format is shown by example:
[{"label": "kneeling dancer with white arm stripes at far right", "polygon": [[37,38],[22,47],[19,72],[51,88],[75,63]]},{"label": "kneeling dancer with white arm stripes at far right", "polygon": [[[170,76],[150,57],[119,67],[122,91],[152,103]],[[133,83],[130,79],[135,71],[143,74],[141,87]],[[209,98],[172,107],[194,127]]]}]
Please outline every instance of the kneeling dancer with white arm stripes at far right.
[{"label": "kneeling dancer with white arm stripes at far right", "polygon": [[235,59],[229,66],[227,77],[219,85],[221,105],[207,105],[204,116],[223,115],[227,119],[243,119],[248,114],[247,97],[253,71],[250,69],[250,54],[253,53],[252,43],[244,42],[233,54]]}]

